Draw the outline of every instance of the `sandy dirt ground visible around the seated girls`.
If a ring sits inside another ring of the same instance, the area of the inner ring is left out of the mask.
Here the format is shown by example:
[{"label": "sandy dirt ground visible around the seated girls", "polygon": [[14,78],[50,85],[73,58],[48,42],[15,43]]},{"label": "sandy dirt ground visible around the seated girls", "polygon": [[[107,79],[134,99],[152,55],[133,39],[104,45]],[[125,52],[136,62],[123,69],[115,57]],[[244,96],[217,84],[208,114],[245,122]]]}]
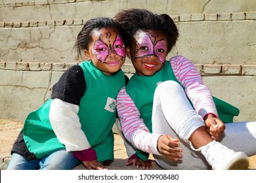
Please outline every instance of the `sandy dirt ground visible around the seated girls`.
[{"label": "sandy dirt ground visible around the seated girls", "polygon": [[[10,158],[12,144],[16,140],[18,133],[22,129],[23,124],[17,120],[1,120],[0,119],[0,158]],[[122,163],[126,162],[127,154],[125,152],[125,146],[120,135],[115,134],[115,158],[121,159]],[[118,161],[117,161],[118,162]],[[256,169],[256,155],[249,157],[249,169]]]}]

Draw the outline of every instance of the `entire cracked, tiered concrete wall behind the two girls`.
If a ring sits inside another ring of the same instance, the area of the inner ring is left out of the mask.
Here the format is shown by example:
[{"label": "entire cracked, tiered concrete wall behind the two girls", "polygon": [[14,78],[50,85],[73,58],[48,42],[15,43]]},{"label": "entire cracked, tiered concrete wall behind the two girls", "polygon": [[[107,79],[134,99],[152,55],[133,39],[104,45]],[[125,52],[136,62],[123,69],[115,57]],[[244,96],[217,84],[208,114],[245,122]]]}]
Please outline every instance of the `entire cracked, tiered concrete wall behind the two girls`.
[{"label": "entire cracked, tiered concrete wall behind the two girls", "polygon": [[[133,7],[169,14],[180,37],[168,58],[196,63],[213,95],[240,108],[236,121],[256,120],[255,0],[0,0],[0,118],[24,121],[51,97],[83,59],[72,48],[86,20]],[[122,69],[134,73],[129,59]]]}]

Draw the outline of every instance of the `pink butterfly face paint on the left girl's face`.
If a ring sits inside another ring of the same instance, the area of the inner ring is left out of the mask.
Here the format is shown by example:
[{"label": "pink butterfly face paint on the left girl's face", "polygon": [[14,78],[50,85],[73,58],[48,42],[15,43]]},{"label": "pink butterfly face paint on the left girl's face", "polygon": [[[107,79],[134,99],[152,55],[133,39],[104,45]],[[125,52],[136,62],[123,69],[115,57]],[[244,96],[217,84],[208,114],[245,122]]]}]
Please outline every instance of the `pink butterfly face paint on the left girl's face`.
[{"label": "pink butterfly face paint on the left girl's face", "polygon": [[114,50],[115,54],[121,57],[121,59],[125,58],[125,46],[121,37],[116,34],[113,45],[111,44],[111,36],[110,32],[106,33],[107,42],[102,41],[100,35],[99,39],[95,41],[93,45],[93,54],[95,54],[98,61],[101,63],[106,63],[106,58],[110,55],[111,50]]}]

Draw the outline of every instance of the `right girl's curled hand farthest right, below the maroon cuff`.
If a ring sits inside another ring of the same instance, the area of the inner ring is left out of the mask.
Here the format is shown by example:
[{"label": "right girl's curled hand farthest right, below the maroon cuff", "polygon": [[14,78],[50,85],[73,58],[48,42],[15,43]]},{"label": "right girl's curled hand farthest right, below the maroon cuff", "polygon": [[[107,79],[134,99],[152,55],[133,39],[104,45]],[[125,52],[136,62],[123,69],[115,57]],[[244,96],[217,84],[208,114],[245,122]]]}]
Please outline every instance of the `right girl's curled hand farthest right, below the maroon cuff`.
[{"label": "right girl's curled hand farthest right, below the maroon cuff", "polygon": [[211,135],[211,139],[218,141],[223,136],[224,129],[226,129],[224,123],[216,118],[213,114],[207,114],[204,118],[205,127]]}]

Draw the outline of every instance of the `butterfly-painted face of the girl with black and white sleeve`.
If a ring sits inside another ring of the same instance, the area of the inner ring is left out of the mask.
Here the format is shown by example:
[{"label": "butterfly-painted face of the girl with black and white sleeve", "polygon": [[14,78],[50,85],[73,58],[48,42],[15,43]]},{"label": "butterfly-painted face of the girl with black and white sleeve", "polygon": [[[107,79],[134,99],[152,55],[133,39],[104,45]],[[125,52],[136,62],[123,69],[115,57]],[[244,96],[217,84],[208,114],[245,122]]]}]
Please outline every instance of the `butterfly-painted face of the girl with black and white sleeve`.
[{"label": "butterfly-painted face of the girl with black and white sleeve", "polygon": [[92,33],[85,57],[106,75],[114,75],[125,62],[125,46],[117,29],[108,27]]}]

